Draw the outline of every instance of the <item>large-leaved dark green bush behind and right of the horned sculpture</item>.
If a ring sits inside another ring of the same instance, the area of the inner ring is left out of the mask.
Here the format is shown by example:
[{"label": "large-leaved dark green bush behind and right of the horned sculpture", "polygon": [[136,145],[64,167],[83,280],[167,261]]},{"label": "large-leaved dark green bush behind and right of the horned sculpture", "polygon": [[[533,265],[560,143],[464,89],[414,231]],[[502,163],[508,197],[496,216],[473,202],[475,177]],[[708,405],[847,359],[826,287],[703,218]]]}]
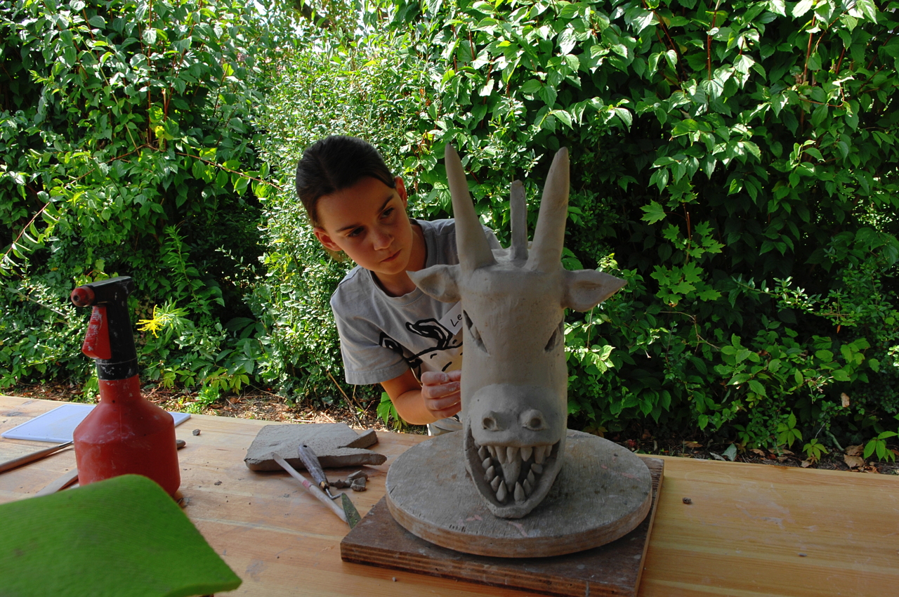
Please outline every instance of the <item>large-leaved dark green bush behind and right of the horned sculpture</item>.
[{"label": "large-leaved dark green bush behind and right of the horned sculpture", "polygon": [[536,199],[570,147],[568,261],[628,280],[568,318],[575,423],[650,417],[743,448],[895,428],[893,9],[396,6],[440,81],[405,161],[423,204],[446,209],[436,159],[454,143],[504,236],[508,182]]}]

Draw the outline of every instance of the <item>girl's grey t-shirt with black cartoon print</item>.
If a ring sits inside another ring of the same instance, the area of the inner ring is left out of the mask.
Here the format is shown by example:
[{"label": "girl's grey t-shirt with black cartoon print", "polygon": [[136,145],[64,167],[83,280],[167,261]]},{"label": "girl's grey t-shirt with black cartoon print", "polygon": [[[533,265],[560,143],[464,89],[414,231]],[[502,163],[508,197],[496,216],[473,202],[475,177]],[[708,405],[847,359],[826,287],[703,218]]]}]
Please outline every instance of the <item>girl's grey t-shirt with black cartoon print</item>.
[{"label": "girl's grey t-shirt with black cartoon print", "polygon": [[[424,266],[458,263],[456,220],[414,220],[422,227],[427,258]],[[491,248],[500,248],[485,227]],[[411,369],[457,370],[462,366],[461,308],[415,289],[390,297],[374,275],[360,266],[346,274],[331,297],[340,334],[343,369],[350,384],[375,384]]]}]

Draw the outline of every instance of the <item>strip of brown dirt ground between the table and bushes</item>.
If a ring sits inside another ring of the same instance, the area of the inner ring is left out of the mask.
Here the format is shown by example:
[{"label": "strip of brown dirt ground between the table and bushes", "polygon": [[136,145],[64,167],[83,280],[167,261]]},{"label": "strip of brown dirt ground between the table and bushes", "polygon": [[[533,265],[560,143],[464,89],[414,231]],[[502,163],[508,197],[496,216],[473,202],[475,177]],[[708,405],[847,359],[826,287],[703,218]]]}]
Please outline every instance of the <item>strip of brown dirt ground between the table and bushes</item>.
[{"label": "strip of brown dirt ground between the table and bushes", "polygon": [[[83,401],[80,388],[65,383],[19,384],[7,388],[3,392],[8,396],[41,398],[44,400]],[[196,395],[165,388],[149,388],[145,394],[147,399],[174,412],[191,412],[218,416],[234,416],[241,419],[258,419],[283,423],[346,423],[354,429],[374,429],[377,431],[402,431],[406,433],[424,433],[425,428],[407,425],[400,430],[387,427],[378,419],[377,402],[348,408],[343,405],[330,405],[325,408],[311,408],[308,405],[290,404],[286,397],[266,391],[262,388],[247,388],[240,396],[222,397],[207,406],[200,406]],[[648,430],[610,433],[606,436],[628,450],[640,454],[661,454],[694,459],[725,460],[723,453],[726,446],[709,447],[701,436],[685,438],[676,435],[670,437],[654,436]],[[795,447],[795,446],[794,446]],[[888,444],[888,448],[899,456],[899,445]],[[737,453],[737,462],[777,465],[786,467],[822,468],[841,470],[850,473],[868,473],[881,475],[899,475],[899,459],[894,462],[878,462],[877,459],[862,459],[863,446],[848,446],[845,453],[825,454],[819,462],[809,463],[805,455],[797,450],[782,450],[779,454],[765,450],[745,450]]]}]

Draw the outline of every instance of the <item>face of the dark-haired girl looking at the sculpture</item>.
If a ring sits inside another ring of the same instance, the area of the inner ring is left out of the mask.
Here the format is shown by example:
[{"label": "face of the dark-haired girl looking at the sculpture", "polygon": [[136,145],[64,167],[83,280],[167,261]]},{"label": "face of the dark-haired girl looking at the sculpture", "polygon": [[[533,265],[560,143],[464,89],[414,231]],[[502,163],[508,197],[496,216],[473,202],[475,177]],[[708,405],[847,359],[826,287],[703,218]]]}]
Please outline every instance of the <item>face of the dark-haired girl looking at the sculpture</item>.
[{"label": "face of the dark-haired girl looking at the sculpture", "polygon": [[395,180],[396,188],[391,189],[366,176],[349,189],[319,199],[319,226],[314,228],[319,242],[376,274],[405,275],[413,231],[405,213],[405,185],[398,176]]}]

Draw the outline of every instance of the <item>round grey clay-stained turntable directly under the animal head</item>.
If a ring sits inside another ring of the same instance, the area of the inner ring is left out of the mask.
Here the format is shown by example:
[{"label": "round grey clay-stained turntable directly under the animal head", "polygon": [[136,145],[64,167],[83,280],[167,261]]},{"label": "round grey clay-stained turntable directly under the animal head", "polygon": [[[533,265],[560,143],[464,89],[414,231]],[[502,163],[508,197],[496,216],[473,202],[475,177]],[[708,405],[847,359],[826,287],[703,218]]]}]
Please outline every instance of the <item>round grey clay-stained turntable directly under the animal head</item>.
[{"label": "round grey clay-stained turntable directly under the animal head", "polygon": [[547,497],[520,519],[494,516],[468,477],[463,432],[406,450],[387,472],[387,507],[417,537],[479,556],[549,557],[626,535],[652,504],[649,468],[629,450],[568,430],[565,464]]}]

